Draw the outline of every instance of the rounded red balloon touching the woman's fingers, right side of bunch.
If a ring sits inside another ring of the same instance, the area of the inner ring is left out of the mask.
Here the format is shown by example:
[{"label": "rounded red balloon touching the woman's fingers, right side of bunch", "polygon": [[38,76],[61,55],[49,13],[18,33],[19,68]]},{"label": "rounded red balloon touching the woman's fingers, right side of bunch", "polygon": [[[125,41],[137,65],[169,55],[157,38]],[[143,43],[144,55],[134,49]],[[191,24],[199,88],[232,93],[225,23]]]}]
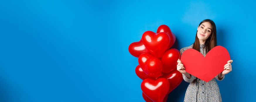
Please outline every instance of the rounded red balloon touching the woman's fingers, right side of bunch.
[{"label": "rounded red balloon touching the woman's fingers, right side of bunch", "polygon": [[169,73],[177,68],[177,60],[180,59],[180,51],[171,48],[166,51],[161,57],[161,62],[163,63],[163,73]]}]

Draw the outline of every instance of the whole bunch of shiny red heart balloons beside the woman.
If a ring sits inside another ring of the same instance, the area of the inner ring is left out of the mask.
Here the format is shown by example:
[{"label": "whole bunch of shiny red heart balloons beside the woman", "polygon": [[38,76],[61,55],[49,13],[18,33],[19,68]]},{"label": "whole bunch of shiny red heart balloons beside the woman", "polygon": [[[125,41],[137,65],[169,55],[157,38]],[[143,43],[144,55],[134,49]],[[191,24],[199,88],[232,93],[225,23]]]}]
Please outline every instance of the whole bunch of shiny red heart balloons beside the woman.
[{"label": "whole bunch of shiny red heart balloons beside the woman", "polygon": [[156,33],[146,31],[140,41],[129,45],[130,54],[138,57],[135,72],[143,80],[141,90],[146,102],[166,102],[168,94],[183,80],[176,70],[180,51],[171,48],[175,40],[170,28],[161,25]]}]

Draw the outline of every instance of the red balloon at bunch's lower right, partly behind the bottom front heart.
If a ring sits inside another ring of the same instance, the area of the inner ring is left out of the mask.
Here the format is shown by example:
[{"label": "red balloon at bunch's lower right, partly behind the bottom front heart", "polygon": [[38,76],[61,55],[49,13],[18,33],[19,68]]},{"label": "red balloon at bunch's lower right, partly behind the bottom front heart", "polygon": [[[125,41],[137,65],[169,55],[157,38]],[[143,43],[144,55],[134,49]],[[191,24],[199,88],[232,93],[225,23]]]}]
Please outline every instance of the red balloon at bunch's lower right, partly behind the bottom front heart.
[{"label": "red balloon at bunch's lower right, partly behind the bottom front heart", "polygon": [[169,88],[168,94],[172,92],[173,89],[178,87],[183,80],[182,74],[177,70],[173,70],[170,73],[163,74],[163,76],[161,77],[168,79],[168,81],[170,82],[170,88]]}]

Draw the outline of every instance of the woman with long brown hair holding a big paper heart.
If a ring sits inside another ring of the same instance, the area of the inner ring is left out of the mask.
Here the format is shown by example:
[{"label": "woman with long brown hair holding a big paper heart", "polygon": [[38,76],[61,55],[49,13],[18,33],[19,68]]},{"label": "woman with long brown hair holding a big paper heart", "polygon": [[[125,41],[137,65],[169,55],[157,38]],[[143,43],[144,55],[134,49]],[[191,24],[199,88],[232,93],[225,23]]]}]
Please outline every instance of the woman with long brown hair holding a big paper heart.
[{"label": "woman with long brown hair holding a big paper heart", "polygon": [[[201,52],[204,56],[212,48],[216,46],[216,27],[215,23],[212,20],[206,19],[203,20],[197,27],[197,33],[195,42],[188,46],[180,49],[180,54],[189,49],[193,48]],[[221,102],[221,94],[219,91],[219,86],[215,79],[221,81],[225,78],[225,74],[232,71],[231,63],[233,60],[227,61],[227,64],[224,65],[224,71],[216,75],[215,78],[209,82],[198,79],[194,75],[187,73],[185,67],[178,59],[177,70],[180,71],[183,75],[183,79],[186,82],[190,82],[187,87],[185,94],[184,102]]]}]

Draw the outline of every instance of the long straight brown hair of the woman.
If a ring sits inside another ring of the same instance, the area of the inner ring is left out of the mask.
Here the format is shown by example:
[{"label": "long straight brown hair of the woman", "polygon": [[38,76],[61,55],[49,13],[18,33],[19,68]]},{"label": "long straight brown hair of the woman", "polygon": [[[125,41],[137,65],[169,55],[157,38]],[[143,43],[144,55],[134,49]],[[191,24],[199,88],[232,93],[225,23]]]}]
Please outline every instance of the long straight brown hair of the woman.
[{"label": "long straight brown hair of the woman", "polygon": [[[216,37],[216,26],[215,23],[210,20],[210,19],[205,19],[202,22],[200,22],[200,24],[198,25],[198,27],[204,23],[204,22],[209,22],[211,24],[211,35],[209,36],[209,38],[206,39],[205,42],[205,47],[206,47],[206,53],[209,52],[212,48],[214,48],[217,45],[217,37]],[[193,49],[197,50],[200,52],[200,48],[199,48],[199,39],[197,37],[197,33],[196,33],[196,38],[195,38],[195,42],[194,42],[194,46]]]}]

